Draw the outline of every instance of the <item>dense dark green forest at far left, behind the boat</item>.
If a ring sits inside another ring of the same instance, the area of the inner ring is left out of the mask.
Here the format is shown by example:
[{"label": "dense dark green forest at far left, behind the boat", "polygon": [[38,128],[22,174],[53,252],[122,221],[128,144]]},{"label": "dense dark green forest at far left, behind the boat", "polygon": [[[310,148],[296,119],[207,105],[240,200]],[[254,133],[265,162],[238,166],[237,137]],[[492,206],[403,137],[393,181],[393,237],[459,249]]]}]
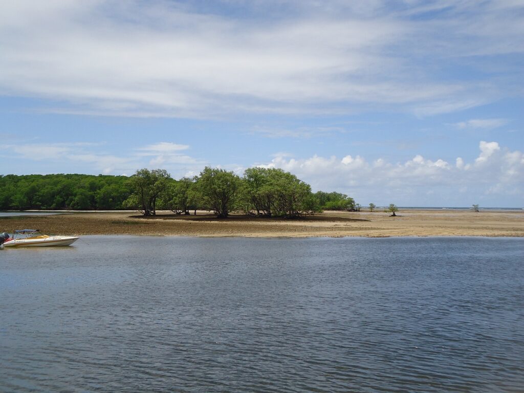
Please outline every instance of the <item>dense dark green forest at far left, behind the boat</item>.
[{"label": "dense dark green forest at far left, behind the boat", "polygon": [[131,194],[127,176],[0,176],[0,210],[117,210]]}]

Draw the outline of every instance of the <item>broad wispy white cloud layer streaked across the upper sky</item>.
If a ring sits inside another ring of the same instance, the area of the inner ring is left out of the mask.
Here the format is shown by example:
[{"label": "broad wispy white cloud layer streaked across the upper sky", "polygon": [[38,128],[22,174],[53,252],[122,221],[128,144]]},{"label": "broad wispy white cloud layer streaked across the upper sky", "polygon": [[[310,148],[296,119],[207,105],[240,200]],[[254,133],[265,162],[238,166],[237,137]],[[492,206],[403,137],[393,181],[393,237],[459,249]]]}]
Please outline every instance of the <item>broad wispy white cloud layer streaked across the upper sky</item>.
[{"label": "broad wispy white cloud layer streaked across the upper sky", "polygon": [[[427,67],[476,70],[494,54],[522,53],[518,2],[204,3],[4,2],[0,93],[92,115],[347,114],[374,105],[425,116],[513,94],[522,77],[499,69],[482,83],[457,82]],[[463,61],[473,56],[475,65]]]}]

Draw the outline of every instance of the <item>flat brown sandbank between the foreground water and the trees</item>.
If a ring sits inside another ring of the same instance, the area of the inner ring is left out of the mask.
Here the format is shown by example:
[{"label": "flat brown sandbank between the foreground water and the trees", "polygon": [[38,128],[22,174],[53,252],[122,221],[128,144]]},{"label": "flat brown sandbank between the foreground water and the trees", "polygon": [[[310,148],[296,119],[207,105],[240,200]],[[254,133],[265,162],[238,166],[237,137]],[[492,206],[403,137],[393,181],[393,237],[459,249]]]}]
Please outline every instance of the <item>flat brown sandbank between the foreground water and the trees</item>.
[{"label": "flat brown sandbank between the foreground water and the trees", "polygon": [[523,211],[405,210],[397,217],[383,212],[324,212],[296,220],[258,219],[212,214],[74,213],[51,216],[0,217],[0,232],[39,228],[63,235],[174,235],[239,237],[318,236],[524,236]]}]

